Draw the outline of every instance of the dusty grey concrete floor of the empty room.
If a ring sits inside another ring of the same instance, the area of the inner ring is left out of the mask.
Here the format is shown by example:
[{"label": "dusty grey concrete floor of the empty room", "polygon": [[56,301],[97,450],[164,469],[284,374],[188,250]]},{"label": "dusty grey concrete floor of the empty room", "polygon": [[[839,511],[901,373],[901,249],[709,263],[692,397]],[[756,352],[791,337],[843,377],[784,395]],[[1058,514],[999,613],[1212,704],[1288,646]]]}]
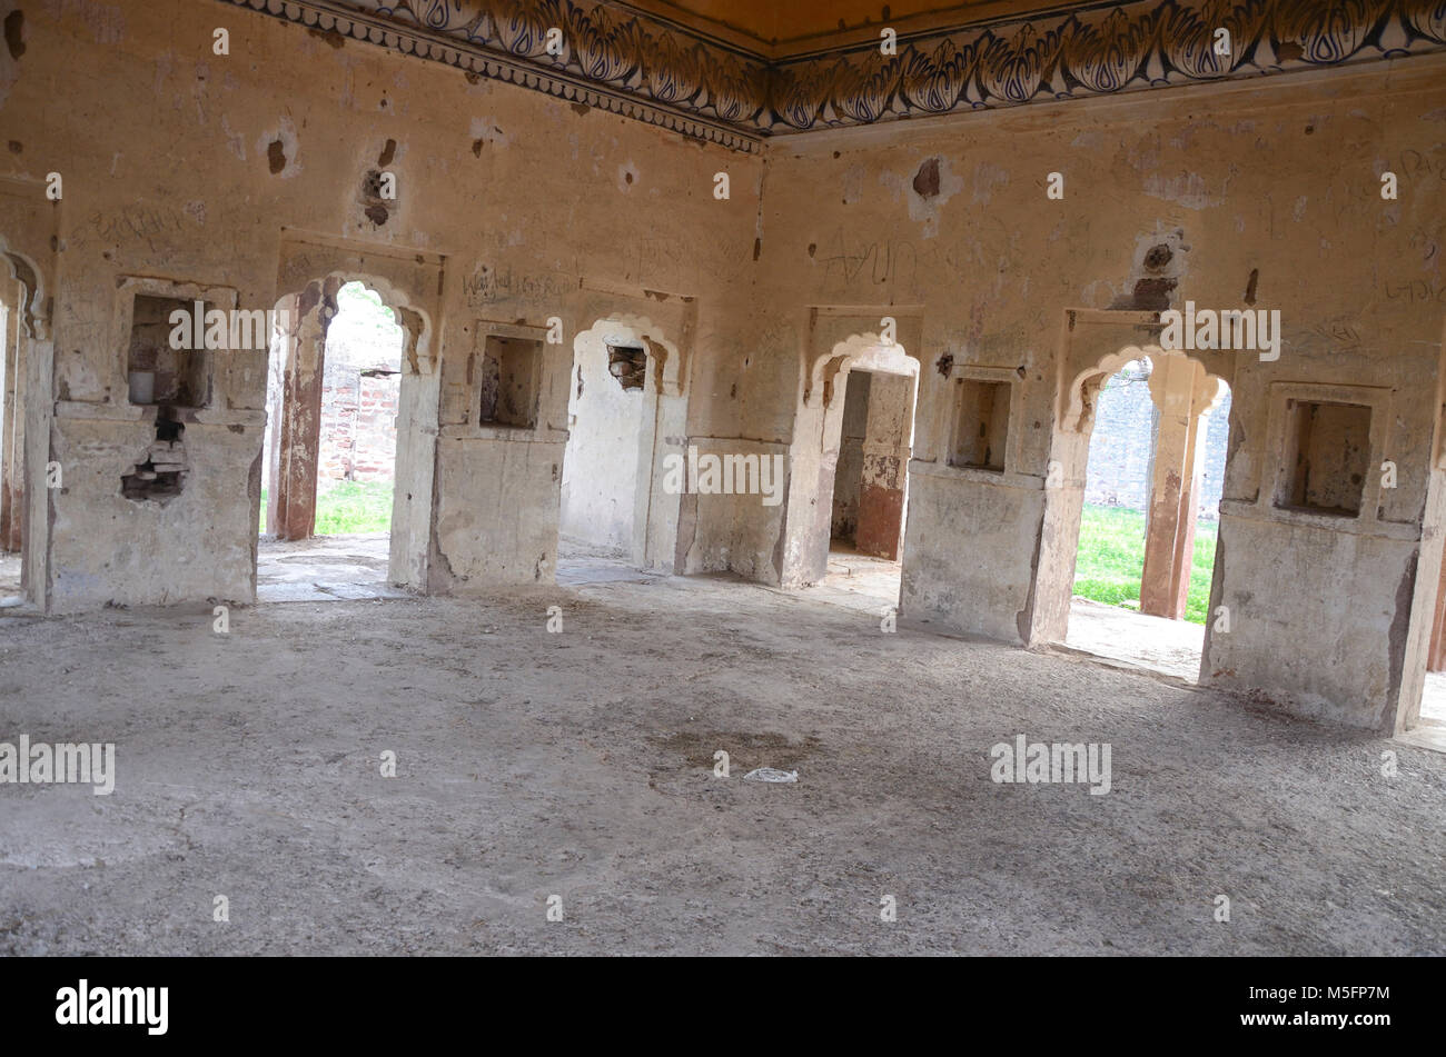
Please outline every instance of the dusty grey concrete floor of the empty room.
[{"label": "dusty grey concrete floor of the empty room", "polygon": [[1446,758],[1222,695],[697,578],[211,619],[0,628],[0,739],[119,768],[0,786],[0,953],[1446,950]]}]

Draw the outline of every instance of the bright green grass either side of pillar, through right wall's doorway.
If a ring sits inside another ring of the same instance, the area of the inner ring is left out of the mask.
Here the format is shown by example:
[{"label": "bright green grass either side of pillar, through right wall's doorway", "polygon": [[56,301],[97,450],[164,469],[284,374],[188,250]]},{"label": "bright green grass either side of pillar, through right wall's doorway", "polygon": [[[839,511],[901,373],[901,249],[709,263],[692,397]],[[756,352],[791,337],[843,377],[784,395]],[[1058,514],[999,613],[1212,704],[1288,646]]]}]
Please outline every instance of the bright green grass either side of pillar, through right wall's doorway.
[{"label": "bright green grass either side of pillar, through right wall's doorway", "polygon": [[[1215,575],[1215,521],[1197,521],[1184,618],[1205,624]],[[1145,514],[1086,503],[1074,560],[1074,593],[1096,602],[1139,608],[1139,576],[1145,567]]]}]

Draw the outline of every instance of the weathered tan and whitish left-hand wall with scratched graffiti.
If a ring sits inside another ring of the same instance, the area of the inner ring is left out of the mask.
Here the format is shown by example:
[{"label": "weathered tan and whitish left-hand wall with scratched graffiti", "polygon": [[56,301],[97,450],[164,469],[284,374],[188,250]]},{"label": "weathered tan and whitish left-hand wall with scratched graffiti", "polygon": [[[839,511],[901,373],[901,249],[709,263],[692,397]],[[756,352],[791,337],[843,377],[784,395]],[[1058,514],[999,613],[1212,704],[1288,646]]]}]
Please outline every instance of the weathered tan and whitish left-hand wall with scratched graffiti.
[{"label": "weathered tan and whitish left-hand wall with scratched graffiti", "polygon": [[[184,280],[272,308],[295,292],[278,283],[283,228],[402,263],[445,258],[428,321],[444,407],[448,393],[470,400],[457,390],[470,384],[477,321],[561,316],[544,425],[565,423],[571,336],[591,322],[576,318],[584,283],[632,312],[693,297],[684,391],[703,399],[688,432],[736,430],[709,404],[723,387],[709,347],[752,266],[758,159],[223,4],[22,9],[25,49],[0,81],[3,139],[17,146],[0,153],[0,172],[38,188],[48,172],[64,176],[49,448],[65,488],[40,544],[51,609],[253,598],[266,354],[217,355],[211,407],[185,427],[181,495],[126,500],[120,478],[153,429],[126,400],[117,283]],[[230,30],[228,56],[213,53],[217,26]],[[376,169],[398,182],[380,222],[363,195]],[[732,175],[730,201],[713,198],[719,170]],[[564,439],[442,426],[435,589],[531,580],[548,566]]]}]

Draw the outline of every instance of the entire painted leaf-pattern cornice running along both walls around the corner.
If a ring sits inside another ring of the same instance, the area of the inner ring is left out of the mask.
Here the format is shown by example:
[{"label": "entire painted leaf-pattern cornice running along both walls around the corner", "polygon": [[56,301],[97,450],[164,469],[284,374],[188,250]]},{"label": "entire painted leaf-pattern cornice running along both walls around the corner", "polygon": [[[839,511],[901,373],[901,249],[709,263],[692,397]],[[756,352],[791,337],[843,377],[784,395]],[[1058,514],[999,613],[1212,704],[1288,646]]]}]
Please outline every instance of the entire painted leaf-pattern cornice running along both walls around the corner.
[{"label": "entire painted leaf-pattern cornice running along both walls around the corner", "polygon": [[1446,0],[1138,0],[901,38],[897,55],[778,62],[606,0],[223,1],[745,152],[774,134],[1446,49]]}]

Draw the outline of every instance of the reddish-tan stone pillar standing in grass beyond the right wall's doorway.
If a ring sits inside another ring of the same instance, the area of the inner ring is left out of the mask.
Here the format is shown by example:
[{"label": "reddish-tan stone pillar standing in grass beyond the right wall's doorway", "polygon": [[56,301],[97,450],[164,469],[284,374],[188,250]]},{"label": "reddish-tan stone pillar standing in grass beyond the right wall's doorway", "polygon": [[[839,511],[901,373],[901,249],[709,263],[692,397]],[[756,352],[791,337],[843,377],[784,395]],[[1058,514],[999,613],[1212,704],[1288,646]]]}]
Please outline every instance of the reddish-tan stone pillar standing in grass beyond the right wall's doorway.
[{"label": "reddish-tan stone pillar standing in grass beyond the right wall's doorway", "polygon": [[1194,520],[1200,508],[1200,449],[1205,413],[1222,394],[1219,378],[1183,355],[1154,357],[1150,399],[1160,410],[1145,527],[1145,569],[1139,609],[1180,619],[1190,593]]}]

